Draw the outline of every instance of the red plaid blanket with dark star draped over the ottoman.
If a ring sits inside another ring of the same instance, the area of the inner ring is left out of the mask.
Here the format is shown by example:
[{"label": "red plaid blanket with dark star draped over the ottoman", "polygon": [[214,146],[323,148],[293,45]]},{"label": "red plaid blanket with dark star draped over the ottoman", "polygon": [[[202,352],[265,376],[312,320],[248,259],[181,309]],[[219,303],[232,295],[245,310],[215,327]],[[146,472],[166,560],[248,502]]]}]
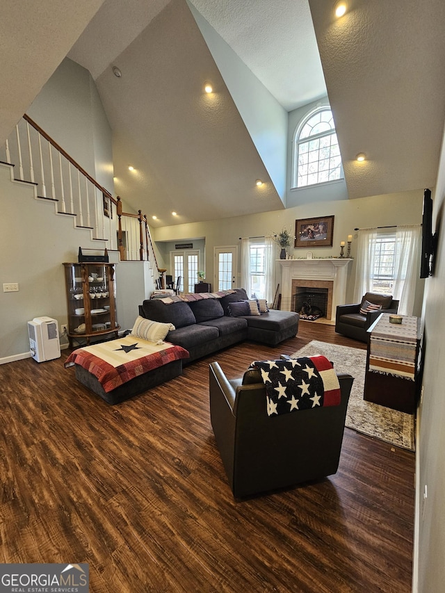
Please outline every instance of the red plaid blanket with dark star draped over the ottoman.
[{"label": "red plaid blanket with dark star draped over the ottoman", "polygon": [[78,348],[67,357],[65,367],[83,366],[108,393],[138,375],[181,358],[188,358],[188,352],[180,346],[127,336]]}]

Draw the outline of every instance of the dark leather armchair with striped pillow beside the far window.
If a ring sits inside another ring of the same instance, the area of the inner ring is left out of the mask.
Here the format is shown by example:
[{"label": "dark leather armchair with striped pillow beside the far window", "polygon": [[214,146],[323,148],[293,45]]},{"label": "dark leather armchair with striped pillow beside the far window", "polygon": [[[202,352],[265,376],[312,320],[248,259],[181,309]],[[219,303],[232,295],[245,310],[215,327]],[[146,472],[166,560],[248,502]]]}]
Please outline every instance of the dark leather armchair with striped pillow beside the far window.
[{"label": "dark leather armchair with striped pillow beside the far window", "polygon": [[[367,311],[366,315],[360,313],[360,309],[365,301],[373,304],[381,304],[382,308],[377,311]],[[337,334],[343,334],[348,338],[353,338],[361,342],[369,341],[368,329],[381,313],[397,313],[398,300],[394,300],[392,295],[380,295],[377,293],[366,293],[361,302],[355,304],[337,305],[337,314],[335,316],[335,331]]]}]

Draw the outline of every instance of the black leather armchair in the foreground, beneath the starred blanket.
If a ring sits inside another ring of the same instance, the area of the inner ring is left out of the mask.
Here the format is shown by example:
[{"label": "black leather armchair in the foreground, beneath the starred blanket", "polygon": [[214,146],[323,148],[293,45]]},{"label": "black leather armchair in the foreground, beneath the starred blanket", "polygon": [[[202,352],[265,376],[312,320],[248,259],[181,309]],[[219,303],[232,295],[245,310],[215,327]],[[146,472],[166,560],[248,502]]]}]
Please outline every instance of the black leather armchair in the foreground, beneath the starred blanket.
[{"label": "black leather armchair in the foreground, beneath the starred blanket", "polygon": [[269,417],[257,369],[228,380],[210,364],[210,415],[235,498],[290,487],[337,472],[353,377],[338,375],[341,403]]}]

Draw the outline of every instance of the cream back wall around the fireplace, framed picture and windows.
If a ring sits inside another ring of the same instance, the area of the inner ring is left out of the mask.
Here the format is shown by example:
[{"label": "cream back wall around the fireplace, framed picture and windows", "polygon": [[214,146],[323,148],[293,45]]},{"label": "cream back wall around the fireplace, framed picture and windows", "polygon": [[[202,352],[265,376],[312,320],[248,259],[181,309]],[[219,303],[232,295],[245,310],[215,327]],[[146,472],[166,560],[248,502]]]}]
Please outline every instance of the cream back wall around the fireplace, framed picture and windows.
[{"label": "cream back wall around the fireplace, framed picture and windows", "polygon": [[[332,247],[314,247],[314,257],[338,257],[340,241],[347,241],[353,235],[351,255],[355,257],[357,245],[356,227],[380,227],[386,225],[415,225],[421,223],[423,189],[405,193],[394,193],[360,198],[359,200],[334,200],[303,204],[286,211],[273,211],[250,216],[238,216],[187,225],[152,229],[154,241],[188,241],[193,237],[205,237],[206,279],[214,284],[213,247],[215,245],[241,245],[239,237],[264,236],[280,231],[282,227],[295,230],[296,219],[312,216],[334,215],[334,238]],[[238,250],[241,251],[241,250]],[[293,249],[289,252],[295,257],[306,257],[307,249]],[[277,247],[277,258],[279,249]],[[419,264],[420,265],[420,264]],[[238,262],[238,270],[241,261]],[[211,280],[210,280],[211,279]],[[275,284],[281,282],[280,269],[277,270]],[[421,314],[423,280],[418,281],[414,315]],[[348,266],[347,302],[353,302],[355,283],[355,262]],[[214,286],[213,286],[214,287]]]}]

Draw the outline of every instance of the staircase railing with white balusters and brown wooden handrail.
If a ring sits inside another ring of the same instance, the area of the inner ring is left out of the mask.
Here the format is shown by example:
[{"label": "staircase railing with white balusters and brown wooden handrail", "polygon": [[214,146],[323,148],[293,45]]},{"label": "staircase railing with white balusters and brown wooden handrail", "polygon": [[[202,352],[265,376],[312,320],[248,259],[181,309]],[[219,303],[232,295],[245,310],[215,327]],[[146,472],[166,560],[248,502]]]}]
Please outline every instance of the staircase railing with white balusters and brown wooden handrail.
[{"label": "staircase railing with white balusters and brown wooden handrail", "polygon": [[54,202],[57,216],[70,217],[75,228],[90,231],[92,241],[118,251],[120,261],[149,261],[153,283],[160,272],[147,217],[122,211],[113,197],[60,147],[31,117],[24,115],[5,145],[0,161],[13,167],[14,179],[35,186],[35,199]]}]

